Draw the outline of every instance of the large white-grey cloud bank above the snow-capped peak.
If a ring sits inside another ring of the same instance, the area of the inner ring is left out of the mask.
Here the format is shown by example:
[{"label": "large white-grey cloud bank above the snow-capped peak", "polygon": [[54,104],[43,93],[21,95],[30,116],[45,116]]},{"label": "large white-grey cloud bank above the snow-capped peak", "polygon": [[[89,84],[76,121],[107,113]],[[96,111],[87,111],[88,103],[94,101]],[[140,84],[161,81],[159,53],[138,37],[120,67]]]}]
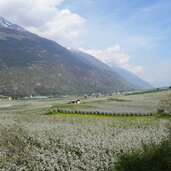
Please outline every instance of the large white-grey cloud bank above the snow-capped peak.
[{"label": "large white-grey cloud bank above the snow-capped peak", "polygon": [[66,45],[84,31],[85,19],[68,9],[60,10],[63,0],[1,0],[1,15],[29,31]]}]

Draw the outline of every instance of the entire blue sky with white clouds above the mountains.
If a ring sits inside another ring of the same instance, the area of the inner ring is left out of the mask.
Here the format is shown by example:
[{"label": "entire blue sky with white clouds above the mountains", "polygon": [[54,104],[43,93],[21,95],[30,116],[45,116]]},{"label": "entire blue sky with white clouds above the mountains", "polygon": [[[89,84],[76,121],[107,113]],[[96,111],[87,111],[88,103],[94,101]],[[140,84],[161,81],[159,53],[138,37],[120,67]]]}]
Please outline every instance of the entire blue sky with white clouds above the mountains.
[{"label": "entire blue sky with white clouds above the mountains", "polygon": [[154,87],[171,85],[170,0],[0,0],[0,15]]}]

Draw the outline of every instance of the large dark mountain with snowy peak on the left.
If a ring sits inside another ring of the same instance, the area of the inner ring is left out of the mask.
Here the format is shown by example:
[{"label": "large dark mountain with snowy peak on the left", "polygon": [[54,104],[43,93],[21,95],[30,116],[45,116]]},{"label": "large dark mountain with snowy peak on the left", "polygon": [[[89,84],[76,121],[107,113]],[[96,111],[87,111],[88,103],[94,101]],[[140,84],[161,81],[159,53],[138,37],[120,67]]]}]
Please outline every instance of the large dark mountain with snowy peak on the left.
[{"label": "large dark mountain with snowy peak on the left", "polygon": [[134,89],[108,66],[94,60],[0,18],[0,94],[107,93]]}]

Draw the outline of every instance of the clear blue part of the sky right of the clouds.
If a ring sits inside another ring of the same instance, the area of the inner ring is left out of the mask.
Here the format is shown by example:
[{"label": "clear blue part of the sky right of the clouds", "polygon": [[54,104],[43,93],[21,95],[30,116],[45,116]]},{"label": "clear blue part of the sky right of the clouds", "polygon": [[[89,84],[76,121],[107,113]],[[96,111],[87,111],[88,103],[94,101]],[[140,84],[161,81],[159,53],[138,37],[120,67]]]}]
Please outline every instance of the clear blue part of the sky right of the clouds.
[{"label": "clear blue part of the sky right of the clouds", "polygon": [[130,65],[142,66],[140,77],[154,86],[171,85],[171,1],[66,0],[61,8],[86,19],[84,48],[117,44]]}]

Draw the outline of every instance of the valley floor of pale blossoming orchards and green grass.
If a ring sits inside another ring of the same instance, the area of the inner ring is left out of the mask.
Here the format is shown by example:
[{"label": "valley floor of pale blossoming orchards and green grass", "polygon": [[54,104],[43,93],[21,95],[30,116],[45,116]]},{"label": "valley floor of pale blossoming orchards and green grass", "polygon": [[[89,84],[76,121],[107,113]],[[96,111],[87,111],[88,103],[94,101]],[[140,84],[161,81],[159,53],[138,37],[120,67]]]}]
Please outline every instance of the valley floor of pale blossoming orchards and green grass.
[{"label": "valley floor of pale blossoming orchards and green grass", "polygon": [[170,93],[1,100],[0,170],[114,171],[125,152],[168,136],[157,109]]}]

